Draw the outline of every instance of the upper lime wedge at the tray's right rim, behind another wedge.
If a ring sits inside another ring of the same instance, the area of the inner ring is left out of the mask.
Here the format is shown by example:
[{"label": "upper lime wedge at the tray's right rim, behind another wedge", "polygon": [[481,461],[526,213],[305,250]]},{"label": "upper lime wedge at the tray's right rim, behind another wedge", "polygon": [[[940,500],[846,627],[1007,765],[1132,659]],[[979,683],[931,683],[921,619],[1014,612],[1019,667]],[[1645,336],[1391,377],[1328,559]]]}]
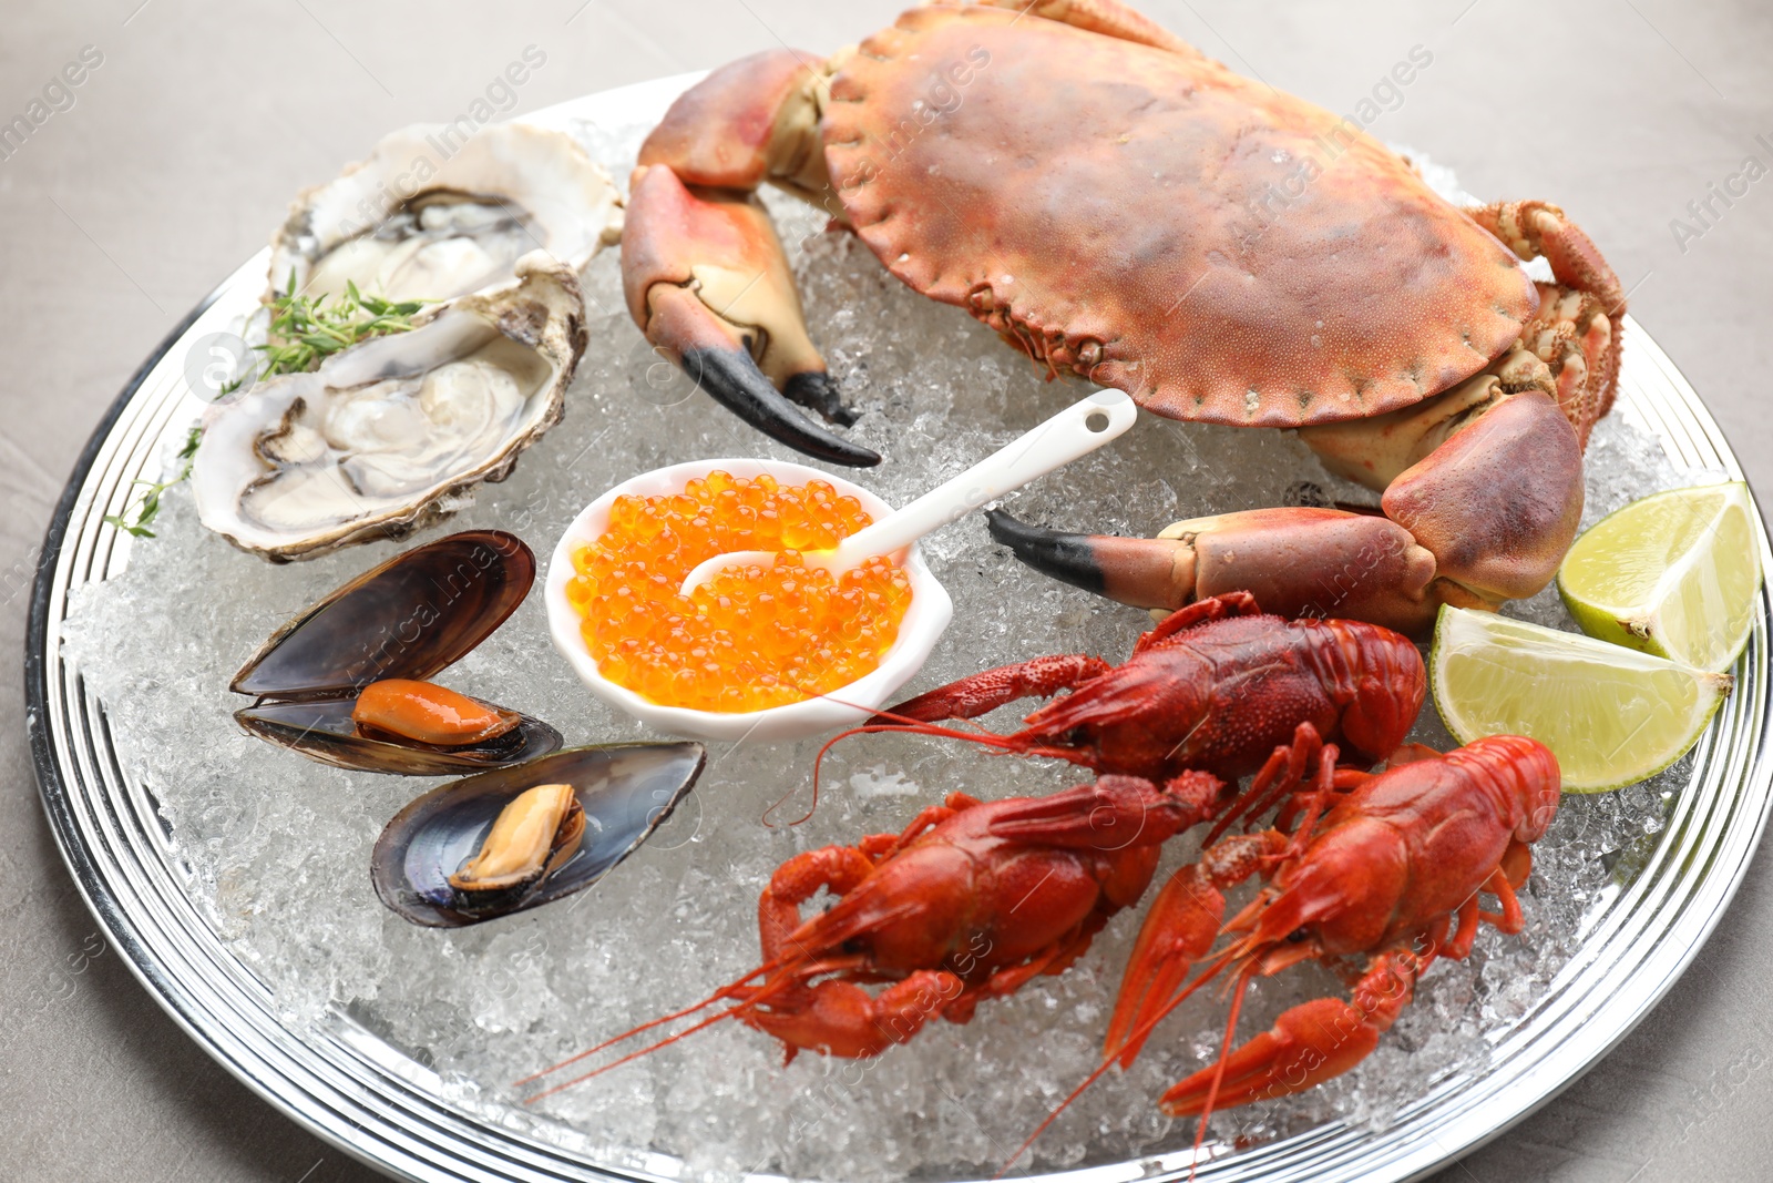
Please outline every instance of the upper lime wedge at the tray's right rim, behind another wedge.
[{"label": "upper lime wedge at the tray's right rim, behind another wedge", "polygon": [[1730,669],[1748,644],[1761,591],[1748,486],[1704,484],[1631,502],[1576,539],[1557,589],[1590,637],[1693,669]]}]

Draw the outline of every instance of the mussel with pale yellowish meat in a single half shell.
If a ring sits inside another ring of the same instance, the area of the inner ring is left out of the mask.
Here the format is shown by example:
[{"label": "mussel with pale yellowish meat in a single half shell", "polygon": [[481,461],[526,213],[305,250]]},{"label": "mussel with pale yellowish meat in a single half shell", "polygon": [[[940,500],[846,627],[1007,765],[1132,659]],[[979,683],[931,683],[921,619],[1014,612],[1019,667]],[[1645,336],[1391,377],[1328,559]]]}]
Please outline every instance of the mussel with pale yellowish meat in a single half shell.
[{"label": "mussel with pale yellowish meat in a single half shell", "polygon": [[571,896],[647,841],[704,761],[700,743],[610,743],[431,789],[376,839],[376,894],[427,928]]}]

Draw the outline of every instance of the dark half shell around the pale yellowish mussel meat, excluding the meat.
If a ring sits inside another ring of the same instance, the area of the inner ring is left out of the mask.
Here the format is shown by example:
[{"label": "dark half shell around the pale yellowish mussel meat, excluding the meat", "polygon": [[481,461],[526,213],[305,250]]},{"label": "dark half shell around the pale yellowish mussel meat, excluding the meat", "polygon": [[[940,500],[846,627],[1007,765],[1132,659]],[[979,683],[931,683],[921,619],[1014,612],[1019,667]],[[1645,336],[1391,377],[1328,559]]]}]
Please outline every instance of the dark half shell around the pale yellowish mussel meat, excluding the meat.
[{"label": "dark half shell around the pale yellowish mussel meat, excluding the meat", "polygon": [[[394,816],[371,857],[381,903],[413,924],[461,928],[571,896],[651,837],[702,773],[700,743],[566,748],[431,789]],[[537,784],[571,784],[585,811],[578,853],[528,892],[463,910],[449,876],[479,853],[498,812]]]}]

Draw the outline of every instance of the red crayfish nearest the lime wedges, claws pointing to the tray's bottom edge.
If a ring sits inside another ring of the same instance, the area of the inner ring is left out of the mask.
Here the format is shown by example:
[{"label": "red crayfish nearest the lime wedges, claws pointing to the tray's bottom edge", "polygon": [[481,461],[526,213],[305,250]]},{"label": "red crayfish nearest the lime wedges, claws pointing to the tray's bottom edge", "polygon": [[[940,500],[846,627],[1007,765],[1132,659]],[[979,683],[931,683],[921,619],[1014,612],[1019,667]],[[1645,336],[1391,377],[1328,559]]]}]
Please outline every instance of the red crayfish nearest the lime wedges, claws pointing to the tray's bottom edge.
[{"label": "red crayfish nearest the lime wedges, claws pointing to the tray's bottom edge", "polygon": [[[1472,951],[1480,921],[1521,931],[1516,890],[1532,869],[1530,842],[1557,814],[1557,757],[1535,740],[1491,736],[1447,756],[1417,748],[1402,759],[1376,775],[1339,770],[1335,748],[1324,745],[1314,787],[1287,798],[1277,828],[1215,842],[1165,883],[1128,960],[1106,1059],[1071,1098],[1110,1064],[1129,1066],[1165,1015],[1229,970],[1236,986],[1218,1062],[1158,1101],[1170,1116],[1200,1116],[1199,1155],[1215,1109],[1300,1093],[1365,1059],[1429,965]],[[1268,885],[1222,924],[1223,889],[1254,874]],[[1480,894],[1495,896],[1500,910],[1484,910]],[[1216,936],[1232,940],[1179,990]],[[1252,977],[1349,954],[1365,965],[1347,1000],[1301,1002],[1232,1050]]]}]

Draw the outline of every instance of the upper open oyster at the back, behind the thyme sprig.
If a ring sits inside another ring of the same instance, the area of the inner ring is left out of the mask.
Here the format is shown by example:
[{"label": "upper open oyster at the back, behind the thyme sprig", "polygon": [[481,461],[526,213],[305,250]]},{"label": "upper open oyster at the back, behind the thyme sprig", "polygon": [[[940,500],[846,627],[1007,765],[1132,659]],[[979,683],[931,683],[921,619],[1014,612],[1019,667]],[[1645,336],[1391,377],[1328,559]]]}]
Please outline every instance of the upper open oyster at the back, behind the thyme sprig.
[{"label": "upper open oyster at the back, behind the thyme sprig", "polygon": [[385,137],[369,160],[301,192],[271,239],[273,293],[454,300],[507,282],[530,250],[578,271],[622,227],[621,197],[571,137],[519,122],[463,138],[449,124]]}]

